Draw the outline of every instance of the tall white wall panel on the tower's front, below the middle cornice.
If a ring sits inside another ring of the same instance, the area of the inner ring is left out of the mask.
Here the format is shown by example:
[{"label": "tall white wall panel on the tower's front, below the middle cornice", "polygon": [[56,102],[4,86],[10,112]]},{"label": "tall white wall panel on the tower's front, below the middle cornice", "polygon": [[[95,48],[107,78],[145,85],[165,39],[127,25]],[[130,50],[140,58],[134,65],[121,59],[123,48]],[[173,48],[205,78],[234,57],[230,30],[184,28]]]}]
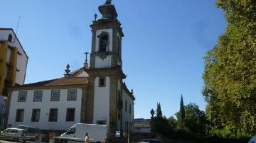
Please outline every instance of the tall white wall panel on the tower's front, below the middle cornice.
[{"label": "tall white wall panel on the tower's front, below the middle cornice", "polygon": [[110,77],[106,77],[105,87],[99,87],[99,77],[95,78],[94,94],[93,123],[107,119],[107,126],[110,127]]}]

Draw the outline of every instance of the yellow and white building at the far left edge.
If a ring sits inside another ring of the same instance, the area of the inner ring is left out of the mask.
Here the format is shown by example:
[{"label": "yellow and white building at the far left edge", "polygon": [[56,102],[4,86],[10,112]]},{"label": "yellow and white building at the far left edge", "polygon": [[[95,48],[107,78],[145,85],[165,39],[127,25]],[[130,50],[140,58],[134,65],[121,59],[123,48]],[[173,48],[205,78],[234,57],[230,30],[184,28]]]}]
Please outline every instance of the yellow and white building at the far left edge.
[{"label": "yellow and white building at the far left edge", "polygon": [[12,28],[0,28],[0,127],[4,125],[7,88],[24,84],[28,56]]}]

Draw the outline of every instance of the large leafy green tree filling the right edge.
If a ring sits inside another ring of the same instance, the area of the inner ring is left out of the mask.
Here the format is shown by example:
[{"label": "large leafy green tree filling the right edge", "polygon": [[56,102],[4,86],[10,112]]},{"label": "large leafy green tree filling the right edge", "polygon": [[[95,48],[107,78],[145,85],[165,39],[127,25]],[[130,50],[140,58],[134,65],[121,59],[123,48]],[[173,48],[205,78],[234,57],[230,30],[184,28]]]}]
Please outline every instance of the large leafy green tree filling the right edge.
[{"label": "large leafy green tree filling the right edge", "polygon": [[203,74],[206,115],[217,127],[256,132],[256,1],[217,0],[228,27],[208,51]]}]

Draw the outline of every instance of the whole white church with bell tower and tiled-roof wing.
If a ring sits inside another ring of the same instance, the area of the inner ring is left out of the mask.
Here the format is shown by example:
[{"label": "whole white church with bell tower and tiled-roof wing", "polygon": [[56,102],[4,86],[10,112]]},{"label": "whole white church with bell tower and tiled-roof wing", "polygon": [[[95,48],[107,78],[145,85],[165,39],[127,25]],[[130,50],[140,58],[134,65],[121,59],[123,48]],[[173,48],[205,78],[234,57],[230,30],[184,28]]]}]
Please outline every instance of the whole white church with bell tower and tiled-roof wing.
[{"label": "whole white church with bell tower and tiled-roof wing", "polygon": [[[31,125],[41,130],[68,130],[75,123],[107,125],[111,133],[132,132],[134,95],[123,79],[122,32],[110,0],[92,21],[90,64],[58,79],[9,88],[7,127]],[[89,66],[90,65],[90,66]]]}]

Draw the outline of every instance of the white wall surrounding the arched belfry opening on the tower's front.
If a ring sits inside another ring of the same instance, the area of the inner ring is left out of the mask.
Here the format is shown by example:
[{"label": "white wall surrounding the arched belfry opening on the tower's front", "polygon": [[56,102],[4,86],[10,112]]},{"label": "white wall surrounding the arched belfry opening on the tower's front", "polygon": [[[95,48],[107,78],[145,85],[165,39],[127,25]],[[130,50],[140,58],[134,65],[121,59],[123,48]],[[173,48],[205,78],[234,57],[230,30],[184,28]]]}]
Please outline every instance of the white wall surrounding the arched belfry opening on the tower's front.
[{"label": "white wall surrounding the arched belfry opening on the tower's front", "polygon": [[110,35],[110,44],[109,44],[109,50],[112,51],[112,45],[113,45],[113,29],[103,29],[103,30],[97,30],[96,31],[96,43],[95,43],[95,52],[99,51],[99,42],[100,38],[98,38],[98,35],[100,35],[102,32],[107,32]]}]

